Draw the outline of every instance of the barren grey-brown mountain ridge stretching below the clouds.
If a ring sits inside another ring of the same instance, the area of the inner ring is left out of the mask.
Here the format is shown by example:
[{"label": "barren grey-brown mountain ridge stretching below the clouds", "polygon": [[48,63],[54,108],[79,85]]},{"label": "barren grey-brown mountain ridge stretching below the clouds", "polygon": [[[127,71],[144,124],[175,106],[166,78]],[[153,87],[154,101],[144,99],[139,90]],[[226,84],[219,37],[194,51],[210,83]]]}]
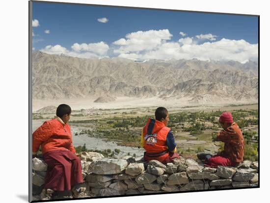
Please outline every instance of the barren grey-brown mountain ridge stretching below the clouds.
[{"label": "barren grey-brown mountain ridge stretching below the clouds", "polygon": [[[258,64],[249,61],[82,59],[32,54],[33,99],[92,98],[109,102],[119,96],[191,103],[258,100]],[[102,99],[98,99],[102,98]],[[108,99],[106,99],[108,98]]]}]

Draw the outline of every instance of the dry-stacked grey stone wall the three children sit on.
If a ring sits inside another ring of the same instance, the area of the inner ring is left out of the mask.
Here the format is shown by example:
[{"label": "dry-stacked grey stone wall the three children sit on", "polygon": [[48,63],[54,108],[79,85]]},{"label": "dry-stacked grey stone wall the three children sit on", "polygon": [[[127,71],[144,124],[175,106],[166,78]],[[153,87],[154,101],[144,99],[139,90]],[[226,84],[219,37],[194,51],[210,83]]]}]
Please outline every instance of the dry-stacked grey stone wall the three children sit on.
[{"label": "dry-stacked grey stone wall the three children sit on", "polygon": [[[215,169],[185,158],[164,165],[157,160],[143,162],[142,157],[104,158],[94,152],[78,156],[88,197],[258,186],[258,162]],[[42,159],[33,158],[33,200],[40,200],[46,170]]]}]

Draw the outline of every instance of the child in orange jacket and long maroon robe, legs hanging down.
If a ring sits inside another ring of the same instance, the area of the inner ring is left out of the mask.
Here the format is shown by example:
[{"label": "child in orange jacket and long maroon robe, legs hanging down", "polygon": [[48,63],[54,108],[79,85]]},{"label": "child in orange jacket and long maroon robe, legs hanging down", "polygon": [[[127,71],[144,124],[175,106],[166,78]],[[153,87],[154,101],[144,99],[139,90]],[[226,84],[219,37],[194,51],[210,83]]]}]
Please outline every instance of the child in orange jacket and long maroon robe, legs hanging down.
[{"label": "child in orange jacket and long maroon robe, legs hanging down", "polygon": [[[42,199],[54,191],[68,191],[72,189],[73,197],[78,197],[85,187],[81,174],[81,160],[75,153],[72,144],[72,135],[68,121],[71,108],[66,104],[57,107],[54,119],[45,121],[34,133],[32,142],[32,155],[36,157],[41,145],[42,155],[48,165],[45,177]],[[55,194],[55,193],[54,193]]]}]

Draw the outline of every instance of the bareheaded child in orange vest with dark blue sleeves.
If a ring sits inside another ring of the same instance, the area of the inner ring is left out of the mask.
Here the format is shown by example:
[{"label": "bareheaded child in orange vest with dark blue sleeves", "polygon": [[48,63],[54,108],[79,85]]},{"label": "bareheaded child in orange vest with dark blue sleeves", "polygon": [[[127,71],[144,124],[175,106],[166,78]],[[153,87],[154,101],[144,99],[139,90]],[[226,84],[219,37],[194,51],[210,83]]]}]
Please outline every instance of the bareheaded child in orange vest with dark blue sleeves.
[{"label": "bareheaded child in orange vest with dark blue sleeves", "polygon": [[141,133],[141,146],[145,149],[144,160],[159,160],[162,163],[180,158],[176,153],[176,144],[171,130],[166,127],[169,113],[164,107],[155,112],[156,119],[149,118]]}]

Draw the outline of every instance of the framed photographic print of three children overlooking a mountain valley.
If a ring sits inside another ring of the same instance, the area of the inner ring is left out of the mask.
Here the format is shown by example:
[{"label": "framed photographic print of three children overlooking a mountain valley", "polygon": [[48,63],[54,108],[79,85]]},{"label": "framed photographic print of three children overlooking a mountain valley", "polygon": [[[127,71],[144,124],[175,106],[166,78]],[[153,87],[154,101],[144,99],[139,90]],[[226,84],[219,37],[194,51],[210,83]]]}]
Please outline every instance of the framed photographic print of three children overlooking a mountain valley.
[{"label": "framed photographic print of three children overlooking a mountain valley", "polygon": [[258,15],[29,1],[29,202],[258,187]]}]

